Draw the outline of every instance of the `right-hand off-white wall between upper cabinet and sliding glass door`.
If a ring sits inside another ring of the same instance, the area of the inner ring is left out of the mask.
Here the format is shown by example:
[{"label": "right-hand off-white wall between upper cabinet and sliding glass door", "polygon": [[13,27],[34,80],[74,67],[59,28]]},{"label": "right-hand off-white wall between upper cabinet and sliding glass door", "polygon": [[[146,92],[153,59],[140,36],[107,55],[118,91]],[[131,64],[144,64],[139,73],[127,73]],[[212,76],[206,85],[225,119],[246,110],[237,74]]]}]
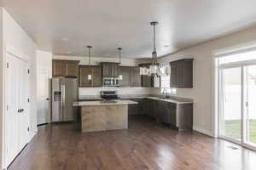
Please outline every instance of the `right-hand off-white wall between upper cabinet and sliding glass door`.
[{"label": "right-hand off-white wall between upper cabinet and sliding glass door", "polygon": [[[241,43],[253,42],[256,40],[256,26],[243,31],[236,32],[217,40],[206,42],[193,48],[181,50],[175,54],[167,55],[159,59],[160,63],[170,62],[177,59],[193,57],[194,61],[194,88],[177,89],[177,96],[192,98],[194,105],[194,127],[195,129],[208,134],[214,134],[214,67],[213,52],[222,48],[230,48]],[[159,94],[154,90],[154,94]]]}]

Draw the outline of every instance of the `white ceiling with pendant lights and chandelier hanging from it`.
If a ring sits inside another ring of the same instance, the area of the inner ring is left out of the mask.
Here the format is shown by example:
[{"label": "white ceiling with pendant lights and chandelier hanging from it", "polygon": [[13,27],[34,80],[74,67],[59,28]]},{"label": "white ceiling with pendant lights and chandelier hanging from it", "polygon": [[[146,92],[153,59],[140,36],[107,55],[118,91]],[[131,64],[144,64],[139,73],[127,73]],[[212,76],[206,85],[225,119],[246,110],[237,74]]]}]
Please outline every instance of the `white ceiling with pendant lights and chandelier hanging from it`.
[{"label": "white ceiling with pendant lights and chandelier hanging from it", "polygon": [[[37,42],[54,54],[151,56],[158,20],[159,56],[252,26],[255,0],[3,0],[3,6]],[[62,39],[68,38],[66,41]],[[169,47],[164,47],[169,45]],[[70,54],[69,54],[70,53]]]}]

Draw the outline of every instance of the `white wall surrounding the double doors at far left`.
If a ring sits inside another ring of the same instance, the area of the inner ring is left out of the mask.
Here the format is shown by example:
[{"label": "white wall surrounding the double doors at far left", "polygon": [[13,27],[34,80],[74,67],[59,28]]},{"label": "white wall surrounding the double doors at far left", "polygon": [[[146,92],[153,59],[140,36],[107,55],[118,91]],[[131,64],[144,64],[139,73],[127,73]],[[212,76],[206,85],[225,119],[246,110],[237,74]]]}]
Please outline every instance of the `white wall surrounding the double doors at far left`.
[{"label": "white wall surrounding the double doors at far left", "polygon": [[[19,51],[20,54],[23,54],[22,56],[29,64],[31,76],[30,76],[30,99],[31,99],[31,108],[30,108],[30,129],[31,129],[31,136],[32,133],[35,133],[37,131],[37,105],[36,105],[36,97],[37,97],[37,62],[36,62],[36,44],[32,41],[32,39],[26,34],[25,31],[13,20],[13,18],[6,12],[4,8],[1,8],[1,12],[3,12],[3,38],[1,38],[1,41],[3,40],[3,49],[6,48],[6,46],[9,44],[15,50]],[[1,66],[5,68],[5,50],[3,50],[3,62],[1,62]],[[3,81],[4,82],[4,72],[5,69],[3,69]],[[3,87],[3,92],[4,92]],[[1,95],[2,99],[4,99],[4,95]],[[1,102],[3,103],[3,102]],[[3,110],[5,111],[5,110]],[[2,126],[3,127],[3,126]],[[3,139],[3,135],[1,136]],[[2,162],[3,162],[3,152],[1,154]],[[3,167],[3,163],[1,164]]]}]

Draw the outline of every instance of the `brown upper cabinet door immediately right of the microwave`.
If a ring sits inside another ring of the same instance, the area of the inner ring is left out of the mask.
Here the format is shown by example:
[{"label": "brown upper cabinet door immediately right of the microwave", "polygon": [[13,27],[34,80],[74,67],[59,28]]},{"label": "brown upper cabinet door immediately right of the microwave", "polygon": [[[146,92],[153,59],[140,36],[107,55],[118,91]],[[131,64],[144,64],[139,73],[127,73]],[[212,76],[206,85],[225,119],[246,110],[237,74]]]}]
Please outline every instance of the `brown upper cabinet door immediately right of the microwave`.
[{"label": "brown upper cabinet door immediately right of the microwave", "polygon": [[120,87],[131,87],[131,67],[119,66],[119,75],[123,75],[123,80],[120,80]]}]

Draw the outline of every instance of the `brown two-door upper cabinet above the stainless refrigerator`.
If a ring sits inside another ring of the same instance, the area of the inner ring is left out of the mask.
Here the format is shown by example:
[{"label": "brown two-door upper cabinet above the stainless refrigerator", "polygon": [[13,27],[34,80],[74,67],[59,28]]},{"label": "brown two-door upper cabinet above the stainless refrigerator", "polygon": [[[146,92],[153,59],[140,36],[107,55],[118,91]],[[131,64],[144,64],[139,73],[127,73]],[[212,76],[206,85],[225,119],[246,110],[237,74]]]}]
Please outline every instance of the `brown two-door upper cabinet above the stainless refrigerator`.
[{"label": "brown two-door upper cabinet above the stainless refrigerator", "polygon": [[53,77],[79,77],[79,60],[61,60],[52,61]]}]

